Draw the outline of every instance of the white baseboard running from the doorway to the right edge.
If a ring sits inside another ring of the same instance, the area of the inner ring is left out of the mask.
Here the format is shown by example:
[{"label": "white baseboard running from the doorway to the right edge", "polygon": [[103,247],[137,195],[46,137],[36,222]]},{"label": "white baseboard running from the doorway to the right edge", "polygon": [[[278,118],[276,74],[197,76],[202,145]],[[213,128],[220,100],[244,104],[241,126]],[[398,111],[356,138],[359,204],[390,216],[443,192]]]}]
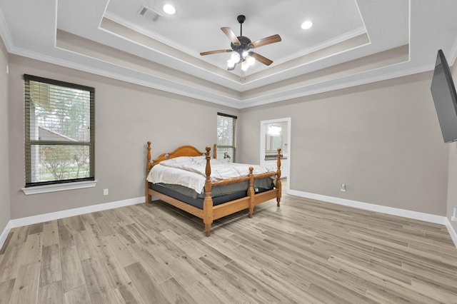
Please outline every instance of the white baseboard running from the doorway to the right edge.
[{"label": "white baseboard running from the doorway to the right edge", "polygon": [[448,228],[448,232],[451,235],[453,243],[454,243],[454,245],[456,245],[456,248],[457,248],[457,233],[451,226],[451,223],[449,222],[448,218],[446,218],[446,216],[436,216],[434,214],[429,214],[429,213],[422,213],[422,212],[410,211],[410,210],[405,210],[405,209],[400,209],[400,208],[381,206],[381,205],[376,205],[373,203],[363,203],[363,202],[359,202],[359,201],[351,201],[346,198],[335,198],[333,196],[323,196],[321,194],[308,193],[308,192],[296,191],[296,190],[289,190],[288,194],[291,194],[292,196],[300,196],[302,198],[311,198],[311,199],[317,200],[317,201],[336,203],[338,205],[354,207],[354,208],[359,208],[359,209],[368,210],[368,211],[386,213],[386,214],[390,214],[392,216],[402,216],[403,218],[412,218],[414,220],[426,221],[426,222],[430,222],[430,223],[445,225],[446,228]]}]

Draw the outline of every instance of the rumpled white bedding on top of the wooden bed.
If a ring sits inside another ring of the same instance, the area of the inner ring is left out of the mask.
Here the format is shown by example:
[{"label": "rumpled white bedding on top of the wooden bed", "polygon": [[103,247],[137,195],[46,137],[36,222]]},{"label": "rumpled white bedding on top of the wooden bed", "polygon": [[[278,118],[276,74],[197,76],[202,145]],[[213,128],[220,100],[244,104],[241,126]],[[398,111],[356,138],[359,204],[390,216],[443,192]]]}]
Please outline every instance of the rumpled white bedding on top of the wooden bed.
[{"label": "rumpled white bedding on top of the wooden bed", "polygon": [[[246,163],[226,163],[211,158],[211,181],[248,176],[249,167],[254,174],[268,173],[268,168]],[[206,158],[204,156],[180,156],[167,159],[153,166],[147,180],[150,183],[172,183],[202,193],[206,181]]]}]

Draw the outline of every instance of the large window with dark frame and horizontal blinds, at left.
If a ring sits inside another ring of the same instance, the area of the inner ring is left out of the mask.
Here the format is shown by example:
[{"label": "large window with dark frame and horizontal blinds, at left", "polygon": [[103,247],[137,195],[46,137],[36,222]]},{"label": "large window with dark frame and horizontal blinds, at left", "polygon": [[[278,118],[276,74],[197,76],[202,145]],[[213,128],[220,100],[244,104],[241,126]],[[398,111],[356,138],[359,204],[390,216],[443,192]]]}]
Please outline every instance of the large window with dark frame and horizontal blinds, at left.
[{"label": "large window with dark frame and horizontal blinds, at left", "polygon": [[94,181],[95,89],[24,75],[26,188]]}]

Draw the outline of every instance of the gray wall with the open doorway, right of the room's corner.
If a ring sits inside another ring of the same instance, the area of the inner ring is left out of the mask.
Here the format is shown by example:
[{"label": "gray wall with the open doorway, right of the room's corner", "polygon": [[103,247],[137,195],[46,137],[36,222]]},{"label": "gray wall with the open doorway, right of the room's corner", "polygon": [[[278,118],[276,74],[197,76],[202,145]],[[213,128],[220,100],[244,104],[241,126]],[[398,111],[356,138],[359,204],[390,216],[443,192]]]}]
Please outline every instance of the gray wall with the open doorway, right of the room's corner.
[{"label": "gray wall with the open doorway, right of the room's corner", "polygon": [[245,109],[239,160],[259,161],[260,121],[291,117],[291,189],[445,216],[448,146],[431,98],[431,76]]}]

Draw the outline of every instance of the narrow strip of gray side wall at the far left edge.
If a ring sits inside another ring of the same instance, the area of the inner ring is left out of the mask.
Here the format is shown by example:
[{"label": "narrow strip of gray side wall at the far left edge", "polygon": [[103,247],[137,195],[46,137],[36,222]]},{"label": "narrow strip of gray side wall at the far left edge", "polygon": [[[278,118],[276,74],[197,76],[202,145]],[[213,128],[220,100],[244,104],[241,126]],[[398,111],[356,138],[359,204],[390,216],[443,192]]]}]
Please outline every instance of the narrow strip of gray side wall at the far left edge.
[{"label": "narrow strip of gray side wall at the far left edge", "polygon": [[9,128],[8,128],[8,52],[0,38],[0,234],[8,224],[10,216],[9,199]]}]

